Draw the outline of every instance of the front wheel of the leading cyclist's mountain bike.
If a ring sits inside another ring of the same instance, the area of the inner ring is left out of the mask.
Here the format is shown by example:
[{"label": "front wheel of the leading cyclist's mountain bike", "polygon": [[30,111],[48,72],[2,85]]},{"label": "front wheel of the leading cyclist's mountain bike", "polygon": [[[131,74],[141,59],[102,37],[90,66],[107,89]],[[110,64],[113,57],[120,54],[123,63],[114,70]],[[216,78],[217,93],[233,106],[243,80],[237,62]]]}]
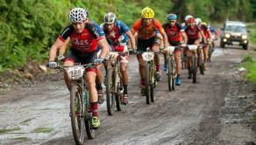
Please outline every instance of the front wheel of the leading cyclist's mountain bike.
[{"label": "front wheel of the leading cyclist's mountain bike", "polygon": [[84,98],[79,86],[72,84],[70,91],[70,117],[75,143],[84,142]]}]

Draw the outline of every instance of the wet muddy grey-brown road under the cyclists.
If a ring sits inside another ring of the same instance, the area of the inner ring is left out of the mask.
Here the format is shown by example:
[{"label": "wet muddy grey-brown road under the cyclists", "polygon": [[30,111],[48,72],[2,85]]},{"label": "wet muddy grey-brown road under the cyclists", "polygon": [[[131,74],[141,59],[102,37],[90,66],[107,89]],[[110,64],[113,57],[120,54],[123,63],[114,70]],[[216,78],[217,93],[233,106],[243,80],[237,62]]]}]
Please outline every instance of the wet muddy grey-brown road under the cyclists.
[{"label": "wet muddy grey-brown road under the cyclists", "polygon": [[[99,105],[101,127],[85,144],[254,144],[256,88],[236,66],[252,51],[218,48],[198,83],[181,73],[181,86],[167,91],[167,76],[155,89],[154,103],[140,96],[135,56],[129,63],[129,104],[108,116]],[[61,76],[0,95],[0,144],[75,144],[68,90]]]}]

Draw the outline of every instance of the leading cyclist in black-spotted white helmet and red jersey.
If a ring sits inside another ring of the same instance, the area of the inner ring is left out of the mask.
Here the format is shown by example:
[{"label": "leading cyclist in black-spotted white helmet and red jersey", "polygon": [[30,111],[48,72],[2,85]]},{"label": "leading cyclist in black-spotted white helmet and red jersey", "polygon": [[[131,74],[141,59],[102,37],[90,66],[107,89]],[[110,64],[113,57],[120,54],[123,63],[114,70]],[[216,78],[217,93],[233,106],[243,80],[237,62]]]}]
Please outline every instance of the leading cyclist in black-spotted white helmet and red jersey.
[{"label": "leading cyclist in black-spotted white helmet and red jersey", "polygon": [[[88,11],[83,8],[74,8],[69,12],[69,24],[61,35],[54,42],[49,53],[48,66],[55,68],[57,63],[54,61],[56,52],[60,47],[68,42],[71,42],[71,47],[68,51],[68,55],[64,60],[64,66],[73,66],[75,63],[89,64],[96,62],[102,62],[103,58],[108,54],[110,48],[106,39],[102,36],[103,31],[99,25],[89,22]],[[101,31],[101,32],[99,32]],[[100,34],[101,33],[101,34]],[[97,56],[97,52],[100,52]],[[64,51],[60,51],[59,57],[61,58]],[[90,105],[92,109],[92,126],[98,128],[100,121],[98,119],[98,104],[97,104],[97,91],[96,91],[96,68],[86,69],[85,81],[90,96]],[[70,89],[70,83],[68,81],[67,74],[64,73],[65,83]]]}]

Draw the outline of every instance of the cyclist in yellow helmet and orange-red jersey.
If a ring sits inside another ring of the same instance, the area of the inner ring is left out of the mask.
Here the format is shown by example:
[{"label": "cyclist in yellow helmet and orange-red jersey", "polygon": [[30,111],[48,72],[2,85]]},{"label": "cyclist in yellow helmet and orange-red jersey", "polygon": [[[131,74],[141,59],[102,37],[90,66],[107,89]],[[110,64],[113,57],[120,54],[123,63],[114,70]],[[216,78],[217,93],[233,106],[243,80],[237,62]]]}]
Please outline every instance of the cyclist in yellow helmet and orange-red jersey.
[{"label": "cyclist in yellow helmet and orange-red jersey", "polygon": [[[160,31],[163,36],[164,47],[168,46],[167,34],[161,27],[160,22],[154,18],[154,12],[152,9],[146,7],[141,10],[141,18],[135,22],[132,26],[132,33],[138,34],[138,52],[146,52],[146,48],[150,47],[153,52],[159,52],[160,46],[157,43],[157,38],[155,31]],[[139,74],[140,74],[140,93],[144,96],[146,95],[146,72],[145,65],[141,55],[137,56],[139,61]],[[160,80],[160,56],[156,54],[154,56],[154,61],[156,64],[156,79]]]}]

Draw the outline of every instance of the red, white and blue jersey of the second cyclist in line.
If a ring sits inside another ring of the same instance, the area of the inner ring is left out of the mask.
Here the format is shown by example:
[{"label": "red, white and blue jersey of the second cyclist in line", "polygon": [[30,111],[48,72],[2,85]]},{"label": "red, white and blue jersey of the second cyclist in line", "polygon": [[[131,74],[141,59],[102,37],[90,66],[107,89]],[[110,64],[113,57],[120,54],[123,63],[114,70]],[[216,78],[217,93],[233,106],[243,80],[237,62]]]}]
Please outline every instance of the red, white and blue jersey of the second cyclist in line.
[{"label": "red, white and blue jersey of the second cyclist in line", "polygon": [[119,39],[122,39],[122,43],[128,42],[128,36],[126,35],[126,32],[130,31],[130,28],[122,21],[117,20],[112,31],[108,31],[104,24],[101,24],[101,27],[105,32],[106,38],[110,45],[119,45]]}]

